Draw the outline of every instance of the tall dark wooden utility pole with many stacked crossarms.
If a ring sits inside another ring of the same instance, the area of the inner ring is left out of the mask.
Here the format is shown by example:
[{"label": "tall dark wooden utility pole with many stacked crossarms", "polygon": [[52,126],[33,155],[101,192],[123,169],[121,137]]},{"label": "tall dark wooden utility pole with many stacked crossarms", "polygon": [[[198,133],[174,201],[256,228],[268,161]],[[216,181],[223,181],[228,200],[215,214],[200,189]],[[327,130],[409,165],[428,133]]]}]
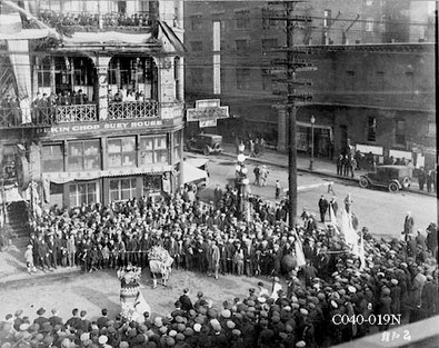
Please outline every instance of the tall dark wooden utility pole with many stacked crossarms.
[{"label": "tall dark wooden utility pole with many stacked crossarms", "polygon": [[[293,16],[295,6],[298,2],[305,1],[270,1],[269,4],[282,3],[286,6],[285,16],[276,16],[273,19],[286,20],[287,22],[287,47],[278,49],[276,51],[287,51],[286,60],[276,60],[275,64],[283,66],[283,70],[275,69],[272,72],[283,73],[286,78],[275,79],[277,81],[287,84],[287,133],[288,133],[288,216],[289,216],[289,227],[293,228],[296,226],[297,219],[297,108],[303,106],[305,102],[312,99],[311,93],[297,92],[297,86],[311,86],[310,80],[297,79],[296,72],[299,71],[312,71],[317,70],[311,63],[305,61],[303,59],[298,60],[297,56],[299,53],[306,52],[306,49],[298,49],[295,47],[293,33],[296,22],[310,22],[311,18],[308,16]],[[306,48],[306,47],[305,47]],[[273,91],[273,93],[279,95],[279,92]],[[280,95],[283,95],[281,91]]]}]

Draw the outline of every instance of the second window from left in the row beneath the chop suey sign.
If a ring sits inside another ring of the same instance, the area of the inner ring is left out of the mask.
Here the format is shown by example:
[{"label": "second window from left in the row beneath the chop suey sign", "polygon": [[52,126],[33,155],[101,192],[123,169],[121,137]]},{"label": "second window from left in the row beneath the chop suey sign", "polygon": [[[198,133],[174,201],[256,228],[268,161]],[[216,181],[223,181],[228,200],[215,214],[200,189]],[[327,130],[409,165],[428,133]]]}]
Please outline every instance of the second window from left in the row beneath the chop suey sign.
[{"label": "second window from left in the row beneath the chop suey sign", "polygon": [[96,170],[101,168],[99,140],[68,143],[68,170]]}]

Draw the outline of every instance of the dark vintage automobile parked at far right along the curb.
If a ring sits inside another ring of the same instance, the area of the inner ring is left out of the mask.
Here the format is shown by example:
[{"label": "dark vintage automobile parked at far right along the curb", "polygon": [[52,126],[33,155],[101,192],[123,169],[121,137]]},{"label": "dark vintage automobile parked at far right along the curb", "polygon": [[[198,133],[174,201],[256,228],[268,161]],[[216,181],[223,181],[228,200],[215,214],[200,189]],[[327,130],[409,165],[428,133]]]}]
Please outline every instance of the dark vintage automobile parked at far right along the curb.
[{"label": "dark vintage automobile parked at far right along the curb", "polygon": [[378,166],[376,170],[361,176],[359,183],[362,188],[383,187],[395,193],[410,187],[410,168],[407,166]]}]

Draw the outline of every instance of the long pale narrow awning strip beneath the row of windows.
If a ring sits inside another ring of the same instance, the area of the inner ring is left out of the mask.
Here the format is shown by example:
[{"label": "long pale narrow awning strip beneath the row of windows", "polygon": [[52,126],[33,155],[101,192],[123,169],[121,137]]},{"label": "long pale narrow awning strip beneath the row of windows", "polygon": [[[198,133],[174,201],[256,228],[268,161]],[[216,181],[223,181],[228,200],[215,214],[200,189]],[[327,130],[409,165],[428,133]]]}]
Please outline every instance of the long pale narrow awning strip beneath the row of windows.
[{"label": "long pale narrow awning strip beneath the row of windows", "polygon": [[42,173],[43,180],[49,180],[54,183],[66,183],[74,180],[94,180],[106,177],[127,177],[142,173],[163,173],[171,171],[172,166],[151,166],[140,168],[118,168],[108,170],[89,170],[89,171],[56,171]]}]

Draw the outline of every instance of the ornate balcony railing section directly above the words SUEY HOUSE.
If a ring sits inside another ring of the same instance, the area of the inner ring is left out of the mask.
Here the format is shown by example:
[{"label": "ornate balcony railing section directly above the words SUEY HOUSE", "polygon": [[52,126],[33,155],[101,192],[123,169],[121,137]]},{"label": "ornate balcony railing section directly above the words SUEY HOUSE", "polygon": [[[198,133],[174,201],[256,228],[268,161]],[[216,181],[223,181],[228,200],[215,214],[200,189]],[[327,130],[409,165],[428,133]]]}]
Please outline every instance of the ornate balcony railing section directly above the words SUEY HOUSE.
[{"label": "ornate balcony railing section directly above the words SUEY HOUSE", "polygon": [[158,101],[124,101],[110,102],[108,105],[108,119],[139,119],[139,118],[158,118]]}]

